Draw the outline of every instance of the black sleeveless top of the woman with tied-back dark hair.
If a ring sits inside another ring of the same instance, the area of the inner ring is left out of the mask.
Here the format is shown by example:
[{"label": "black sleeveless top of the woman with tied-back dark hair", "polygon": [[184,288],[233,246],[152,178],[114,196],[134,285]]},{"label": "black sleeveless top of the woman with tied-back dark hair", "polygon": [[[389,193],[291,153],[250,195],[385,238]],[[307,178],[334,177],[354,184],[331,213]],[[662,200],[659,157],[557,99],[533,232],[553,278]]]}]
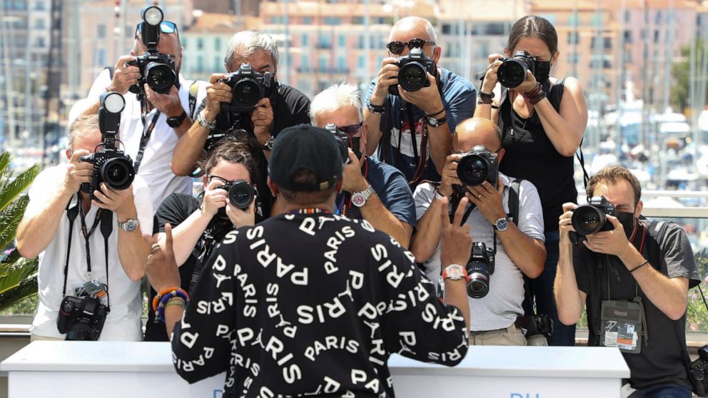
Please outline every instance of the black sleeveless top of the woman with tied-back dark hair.
[{"label": "black sleeveless top of the woman with tied-back dark hair", "polygon": [[[556,111],[563,97],[562,81],[550,88],[543,85],[548,101]],[[506,94],[505,94],[506,95]],[[577,189],[573,178],[573,157],[563,156],[555,149],[536,112],[528,119],[521,118],[512,108],[510,98],[500,106],[499,128],[505,155],[499,168],[512,178],[529,180],[536,186],[543,208],[546,231],[558,230],[562,205],[577,203]]]}]

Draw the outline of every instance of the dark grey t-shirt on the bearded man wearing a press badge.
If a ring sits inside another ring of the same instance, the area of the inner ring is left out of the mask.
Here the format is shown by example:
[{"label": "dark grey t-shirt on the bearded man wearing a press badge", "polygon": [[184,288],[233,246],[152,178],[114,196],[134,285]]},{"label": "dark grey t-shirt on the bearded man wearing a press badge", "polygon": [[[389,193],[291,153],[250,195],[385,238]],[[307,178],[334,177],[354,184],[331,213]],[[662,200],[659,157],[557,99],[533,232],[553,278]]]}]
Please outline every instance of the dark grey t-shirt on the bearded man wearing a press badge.
[{"label": "dark grey t-shirt on the bearded man wearing a press badge", "polygon": [[[701,279],[696,268],[693,250],[684,230],[678,228],[677,225],[669,224],[662,245],[657,245],[649,233],[646,235],[640,233],[649,223],[642,221],[642,225],[643,227],[637,231],[632,244],[637,250],[641,248],[640,251],[644,258],[647,258],[652,266],[657,267],[657,270],[669,278],[686,277],[689,279],[689,287],[697,285]],[[644,235],[643,247],[642,235]],[[652,250],[650,245],[654,245],[658,249]],[[654,260],[660,264],[652,262],[650,257],[653,256],[649,255],[649,252],[660,253],[657,254],[657,257],[662,260]],[[606,262],[605,259],[607,259]],[[616,256],[597,255],[585,248],[584,245],[578,245],[573,249],[573,260],[577,286],[587,294],[588,345],[597,346],[600,345],[599,327],[602,326],[600,302],[602,300],[631,301],[637,291],[637,282]],[[595,264],[596,262],[600,262],[600,269]],[[600,297],[592,296],[597,294],[595,292],[600,292]],[[640,288],[639,297],[642,297],[644,304],[649,340],[646,341],[647,345],[642,342],[642,352],[639,354],[622,353],[631,372],[629,381],[632,387],[646,389],[659,384],[679,384],[691,388],[682,356],[686,345],[686,314],[679,320],[671,320],[649,301]],[[597,300],[598,298],[599,300]]]}]

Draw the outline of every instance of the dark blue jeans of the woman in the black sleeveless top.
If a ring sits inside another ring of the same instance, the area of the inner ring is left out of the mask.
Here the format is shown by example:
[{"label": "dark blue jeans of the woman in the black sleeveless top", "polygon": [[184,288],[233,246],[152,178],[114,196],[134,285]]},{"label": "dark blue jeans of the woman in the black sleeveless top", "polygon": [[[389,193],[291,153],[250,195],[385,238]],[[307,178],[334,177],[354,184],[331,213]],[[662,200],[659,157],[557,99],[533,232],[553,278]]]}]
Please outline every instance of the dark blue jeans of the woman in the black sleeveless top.
[{"label": "dark blue jeans of the woman in the black sleeveless top", "polygon": [[548,345],[573,346],[575,345],[575,325],[566,326],[560,323],[555,307],[555,297],[553,297],[553,282],[560,256],[558,250],[560,235],[558,231],[549,231],[545,233],[545,238],[546,263],[541,275],[531,281],[531,292],[536,303],[537,313],[547,314],[553,320],[553,334],[548,337]]}]

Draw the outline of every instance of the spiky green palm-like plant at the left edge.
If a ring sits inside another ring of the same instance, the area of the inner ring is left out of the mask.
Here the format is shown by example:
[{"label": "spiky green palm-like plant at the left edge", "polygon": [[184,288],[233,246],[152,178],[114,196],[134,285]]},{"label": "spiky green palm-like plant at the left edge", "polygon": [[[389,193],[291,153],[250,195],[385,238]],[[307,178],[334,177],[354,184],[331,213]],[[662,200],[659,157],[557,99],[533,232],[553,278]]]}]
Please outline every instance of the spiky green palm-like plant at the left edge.
[{"label": "spiky green palm-like plant at the left edge", "polygon": [[0,311],[37,294],[37,259],[24,259],[14,247],[17,225],[29,202],[23,192],[41,170],[36,164],[14,176],[11,154],[0,153]]}]

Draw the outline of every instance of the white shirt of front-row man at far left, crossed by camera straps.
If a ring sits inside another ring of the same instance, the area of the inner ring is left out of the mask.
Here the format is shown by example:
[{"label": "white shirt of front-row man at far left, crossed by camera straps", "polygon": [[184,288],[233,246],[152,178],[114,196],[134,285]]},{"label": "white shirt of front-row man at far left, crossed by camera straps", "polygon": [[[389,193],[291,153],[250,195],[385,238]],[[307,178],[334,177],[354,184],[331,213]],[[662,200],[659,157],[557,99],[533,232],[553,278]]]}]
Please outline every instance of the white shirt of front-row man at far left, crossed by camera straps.
[{"label": "white shirt of front-row man at far left, crossed by camera straps", "polygon": [[[64,182],[67,165],[56,165],[43,170],[29,189],[27,214],[41,210],[55,195]],[[150,190],[139,176],[133,181],[133,198],[138,221],[143,235],[152,234],[153,208]],[[71,199],[71,206],[76,205],[76,195]],[[96,219],[98,208],[91,205],[86,214],[86,228],[90,229]],[[74,295],[74,289],[89,281],[86,262],[86,240],[81,233],[81,215],[74,220],[71,234],[71,258],[66,282],[66,295]],[[64,285],[64,266],[66,249],[69,244],[69,218],[66,210],[59,221],[54,240],[39,254],[39,302],[30,332],[45,337],[64,337],[56,328],[56,317],[64,298],[61,290]],[[89,238],[91,250],[91,278],[106,283],[106,254],[101,235],[100,224]],[[143,306],[140,296],[140,281],[133,282],[123,271],[118,259],[118,220],[113,215],[113,232],[108,237],[108,295],[111,299],[111,312],[106,317],[103,332],[99,340],[140,341],[143,339],[141,315]]]}]

